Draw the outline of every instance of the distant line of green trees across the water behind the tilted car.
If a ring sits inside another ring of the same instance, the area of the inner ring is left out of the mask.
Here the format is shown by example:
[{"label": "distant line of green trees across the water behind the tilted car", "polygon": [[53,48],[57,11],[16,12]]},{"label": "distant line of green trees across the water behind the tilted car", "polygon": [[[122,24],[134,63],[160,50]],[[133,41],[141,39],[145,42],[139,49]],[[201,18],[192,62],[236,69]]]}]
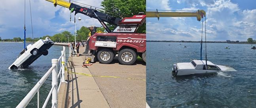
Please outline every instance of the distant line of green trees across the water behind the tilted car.
[{"label": "distant line of green trees across the water behind the tilted car", "polygon": [[[97,27],[97,31],[101,30],[104,31],[105,29],[103,27]],[[76,31],[76,40],[81,41],[81,40],[87,40],[88,34],[89,34],[89,29],[85,26],[82,26],[79,30]],[[45,39],[46,37],[49,37],[53,42],[74,42],[74,34],[71,34],[69,31],[63,31],[61,33],[57,33],[53,36],[45,35],[43,37],[36,37],[34,38],[34,42],[38,41],[39,39]],[[14,37],[12,39],[2,39],[0,37],[0,41],[4,42],[23,42],[24,38],[20,37]],[[33,39],[32,37],[26,38],[26,42],[32,42]]]}]

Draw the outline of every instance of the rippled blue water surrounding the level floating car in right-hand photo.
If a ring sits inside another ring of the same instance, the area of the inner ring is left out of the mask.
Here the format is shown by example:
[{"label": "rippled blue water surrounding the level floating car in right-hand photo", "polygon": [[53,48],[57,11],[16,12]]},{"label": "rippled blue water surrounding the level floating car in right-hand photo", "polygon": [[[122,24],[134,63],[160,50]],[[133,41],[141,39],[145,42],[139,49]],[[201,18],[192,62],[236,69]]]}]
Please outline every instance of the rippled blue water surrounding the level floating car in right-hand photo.
[{"label": "rippled blue water surrounding the level floating car in right-hand photo", "polygon": [[[230,49],[224,49],[227,46]],[[200,43],[147,42],[147,103],[152,108],[255,107],[256,50],[250,48],[250,44],[207,43],[209,61],[237,71],[173,77],[173,63],[200,59]]]}]

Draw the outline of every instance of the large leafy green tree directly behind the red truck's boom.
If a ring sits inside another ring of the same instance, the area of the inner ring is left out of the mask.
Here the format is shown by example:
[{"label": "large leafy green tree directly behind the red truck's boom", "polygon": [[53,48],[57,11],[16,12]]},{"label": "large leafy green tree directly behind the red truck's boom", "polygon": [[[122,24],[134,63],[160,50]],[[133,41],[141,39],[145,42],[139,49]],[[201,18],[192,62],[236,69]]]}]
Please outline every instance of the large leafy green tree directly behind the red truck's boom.
[{"label": "large leafy green tree directly behind the red truck's boom", "polygon": [[[118,18],[146,13],[146,0],[103,0],[101,6],[104,7],[104,13]],[[110,24],[108,26],[111,30],[115,27]],[[146,23],[138,28],[137,33],[146,33]]]}]

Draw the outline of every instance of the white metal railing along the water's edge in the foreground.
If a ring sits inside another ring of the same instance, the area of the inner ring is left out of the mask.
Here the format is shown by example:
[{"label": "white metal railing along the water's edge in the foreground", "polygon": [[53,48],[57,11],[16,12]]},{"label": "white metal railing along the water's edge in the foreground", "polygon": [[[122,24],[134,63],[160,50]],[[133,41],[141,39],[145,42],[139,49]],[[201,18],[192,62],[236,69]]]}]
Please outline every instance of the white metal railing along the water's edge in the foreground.
[{"label": "white metal railing along the water's edge in the foreground", "polygon": [[[28,94],[23,98],[23,100],[16,106],[16,108],[25,108],[28,103],[31,101],[31,99],[34,97],[34,95],[37,93],[37,107],[39,108],[39,89],[44,84],[46,79],[49,77],[49,75],[52,75],[52,82],[51,82],[51,90],[49,94],[47,95],[46,101],[44,102],[44,105],[42,108],[46,108],[46,105],[52,96],[51,99],[51,108],[57,108],[58,107],[58,92],[59,88],[62,82],[66,82],[64,79],[64,73],[65,73],[65,67],[66,67],[66,53],[65,53],[65,47],[63,46],[63,51],[61,51],[61,56],[59,59],[51,59],[51,68],[44,74],[44,76],[36,83],[36,85],[28,92]],[[60,63],[60,70],[58,73],[58,63]],[[60,83],[58,85],[58,78],[60,78]],[[67,83],[67,82],[66,82]]]}]

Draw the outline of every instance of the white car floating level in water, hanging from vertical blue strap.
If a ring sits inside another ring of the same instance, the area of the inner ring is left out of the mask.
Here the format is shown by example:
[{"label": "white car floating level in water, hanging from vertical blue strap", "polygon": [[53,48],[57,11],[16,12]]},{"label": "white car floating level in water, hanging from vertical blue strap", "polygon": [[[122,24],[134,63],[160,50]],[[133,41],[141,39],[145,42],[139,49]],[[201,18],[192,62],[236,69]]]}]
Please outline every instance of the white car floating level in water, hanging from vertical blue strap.
[{"label": "white car floating level in water, hanging from vertical blue strap", "polygon": [[[192,60],[191,62],[176,63],[173,65],[172,71],[175,76],[203,74],[203,73],[217,73],[219,71],[229,71],[227,66],[215,65],[207,61],[207,69],[205,60]],[[234,69],[233,69],[234,70]],[[234,70],[235,71],[235,70]]]}]

